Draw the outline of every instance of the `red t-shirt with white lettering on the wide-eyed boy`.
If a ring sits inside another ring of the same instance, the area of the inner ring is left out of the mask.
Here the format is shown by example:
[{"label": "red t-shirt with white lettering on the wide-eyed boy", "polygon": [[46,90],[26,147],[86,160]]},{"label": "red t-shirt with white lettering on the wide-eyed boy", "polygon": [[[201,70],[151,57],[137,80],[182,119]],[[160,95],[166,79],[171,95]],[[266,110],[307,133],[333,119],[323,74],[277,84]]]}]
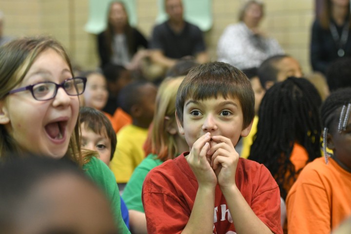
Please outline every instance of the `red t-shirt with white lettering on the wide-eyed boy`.
[{"label": "red t-shirt with white lettering on the wide-eyed boy", "polygon": [[[149,172],[143,184],[148,233],[176,234],[185,228],[198,188],[197,180],[183,153]],[[282,234],[280,193],[271,173],[262,164],[239,158],[236,186],[259,219],[273,233]],[[230,232],[232,231],[232,232]],[[215,190],[214,234],[234,233],[235,227],[219,186]]]}]

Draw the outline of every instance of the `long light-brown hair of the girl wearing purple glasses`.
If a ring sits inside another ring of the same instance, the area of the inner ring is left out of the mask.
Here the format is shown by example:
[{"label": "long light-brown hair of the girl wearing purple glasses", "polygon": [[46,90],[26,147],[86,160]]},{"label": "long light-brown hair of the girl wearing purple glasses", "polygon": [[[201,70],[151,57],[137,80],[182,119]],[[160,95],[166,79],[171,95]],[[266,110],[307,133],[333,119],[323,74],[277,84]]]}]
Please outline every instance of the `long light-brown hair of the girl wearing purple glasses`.
[{"label": "long light-brown hair of the girl wearing purple glasses", "polygon": [[[3,101],[8,92],[23,80],[39,54],[49,48],[55,50],[67,62],[72,73],[71,62],[63,46],[50,37],[19,38],[0,47],[0,101]],[[79,131],[79,124],[76,124],[65,157],[82,166],[84,160],[80,152]],[[0,136],[0,161],[5,160],[5,157],[12,152],[26,151],[7,133],[2,124]],[[88,161],[92,155],[92,152],[87,152],[85,161]]]}]

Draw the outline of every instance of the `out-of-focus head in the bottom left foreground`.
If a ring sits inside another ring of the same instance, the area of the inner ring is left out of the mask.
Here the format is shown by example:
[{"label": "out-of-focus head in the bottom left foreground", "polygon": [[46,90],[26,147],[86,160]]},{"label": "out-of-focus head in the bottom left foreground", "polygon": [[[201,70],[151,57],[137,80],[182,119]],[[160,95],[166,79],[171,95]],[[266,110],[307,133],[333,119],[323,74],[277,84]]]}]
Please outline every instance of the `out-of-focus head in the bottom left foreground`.
[{"label": "out-of-focus head in the bottom left foreground", "polygon": [[0,233],[118,233],[107,197],[76,165],[9,156],[0,164]]}]

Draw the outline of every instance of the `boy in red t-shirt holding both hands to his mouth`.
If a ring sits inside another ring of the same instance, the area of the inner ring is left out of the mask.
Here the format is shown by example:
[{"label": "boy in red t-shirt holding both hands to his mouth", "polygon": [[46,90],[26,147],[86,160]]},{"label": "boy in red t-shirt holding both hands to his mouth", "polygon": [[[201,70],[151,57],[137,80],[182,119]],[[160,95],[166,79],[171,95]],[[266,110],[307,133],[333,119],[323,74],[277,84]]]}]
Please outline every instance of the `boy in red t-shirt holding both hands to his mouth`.
[{"label": "boy in red t-shirt holding both hands to his mouth", "polygon": [[176,98],[179,132],[190,152],[146,176],[148,233],[282,233],[276,182],[234,148],[253,118],[254,92],[241,71],[222,62],[190,71]]}]

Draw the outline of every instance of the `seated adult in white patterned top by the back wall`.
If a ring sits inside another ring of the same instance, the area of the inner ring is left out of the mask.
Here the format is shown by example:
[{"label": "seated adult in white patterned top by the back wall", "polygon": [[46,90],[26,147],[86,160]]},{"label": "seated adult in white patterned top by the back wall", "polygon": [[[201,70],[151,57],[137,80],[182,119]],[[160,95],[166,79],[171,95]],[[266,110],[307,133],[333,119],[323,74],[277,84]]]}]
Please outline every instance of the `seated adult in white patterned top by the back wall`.
[{"label": "seated adult in white patterned top by the back wall", "polygon": [[239,22],[229,25],[218,41],[218,61],[239,69],[258,67],[265,59],[282,54],[279,43],[267,37],[259,23],[264,15],[261,1],[247,1],[239,12]]}]

